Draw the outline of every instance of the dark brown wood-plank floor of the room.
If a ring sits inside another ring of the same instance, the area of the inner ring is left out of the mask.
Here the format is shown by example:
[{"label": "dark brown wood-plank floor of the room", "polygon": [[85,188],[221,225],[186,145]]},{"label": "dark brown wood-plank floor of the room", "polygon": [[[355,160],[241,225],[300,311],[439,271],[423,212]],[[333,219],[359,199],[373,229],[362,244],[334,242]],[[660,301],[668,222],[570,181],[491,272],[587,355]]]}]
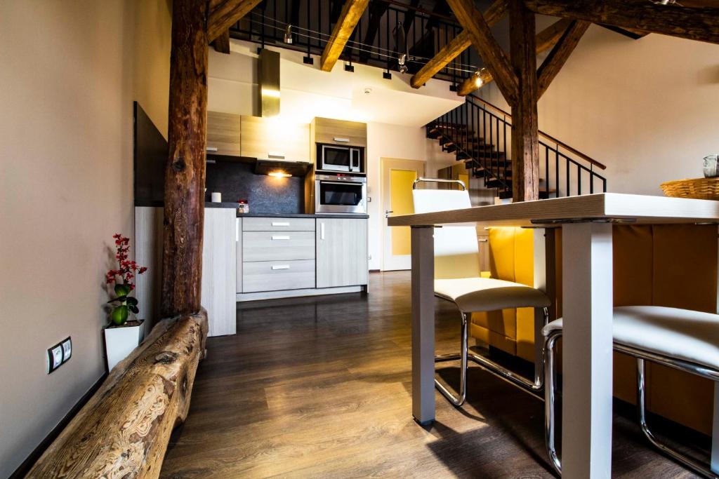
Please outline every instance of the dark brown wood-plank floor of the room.
[{"label": "dark brown wood-plank floor of the room", "polygon": [[[456,310],[437,312],[438,352],[457,350]],[[372,274],[367,296],[242,304],[237,335],[208,340],[162,477],[553,477],[543,403],[477,366],[462,409],[437,393],[434,425],[413,422],[410,340],[407,272]],[[456,364],[441,368],[456,384]],[[614,437],[614,477],[695,477],[629,419]]]}]

